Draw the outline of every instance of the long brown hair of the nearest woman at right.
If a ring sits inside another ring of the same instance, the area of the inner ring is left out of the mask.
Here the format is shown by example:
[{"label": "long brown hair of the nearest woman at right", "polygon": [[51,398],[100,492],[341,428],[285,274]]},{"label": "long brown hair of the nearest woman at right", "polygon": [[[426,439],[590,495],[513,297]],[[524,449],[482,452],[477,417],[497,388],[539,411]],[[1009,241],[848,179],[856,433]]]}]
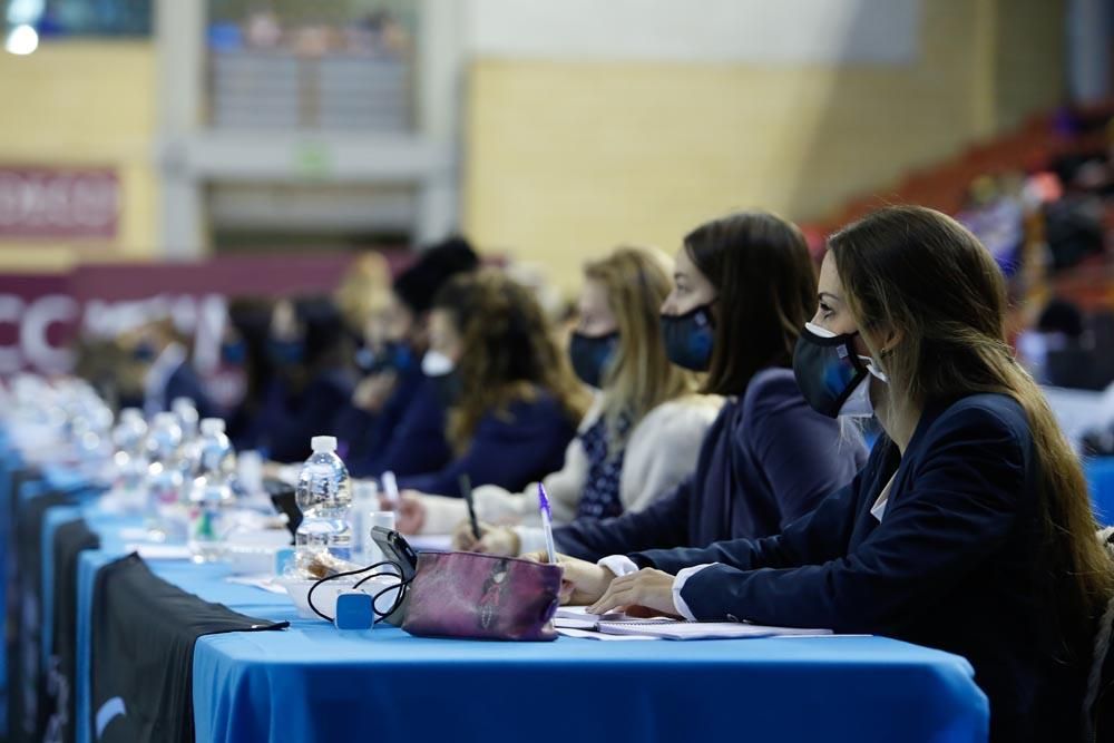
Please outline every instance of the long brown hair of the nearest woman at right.
[{"label": "long brown hair of the nearest woman at right", "polygon": [[[1049,610],[1059,613],[1065,629],[1089,635],[1111,594],[1111,563],[1095,537],[1079,461],[1006,343],[1006,285],[989,251],[955,219],[917,206],[883,208],[828,244],[862,338],[883,360],[892,412],[986,392],[1025,410],[1039,462],[1047,558],[1040,569],[1063,577]],[[872,336],[889,330],[899,340],[880,355]]]}]

